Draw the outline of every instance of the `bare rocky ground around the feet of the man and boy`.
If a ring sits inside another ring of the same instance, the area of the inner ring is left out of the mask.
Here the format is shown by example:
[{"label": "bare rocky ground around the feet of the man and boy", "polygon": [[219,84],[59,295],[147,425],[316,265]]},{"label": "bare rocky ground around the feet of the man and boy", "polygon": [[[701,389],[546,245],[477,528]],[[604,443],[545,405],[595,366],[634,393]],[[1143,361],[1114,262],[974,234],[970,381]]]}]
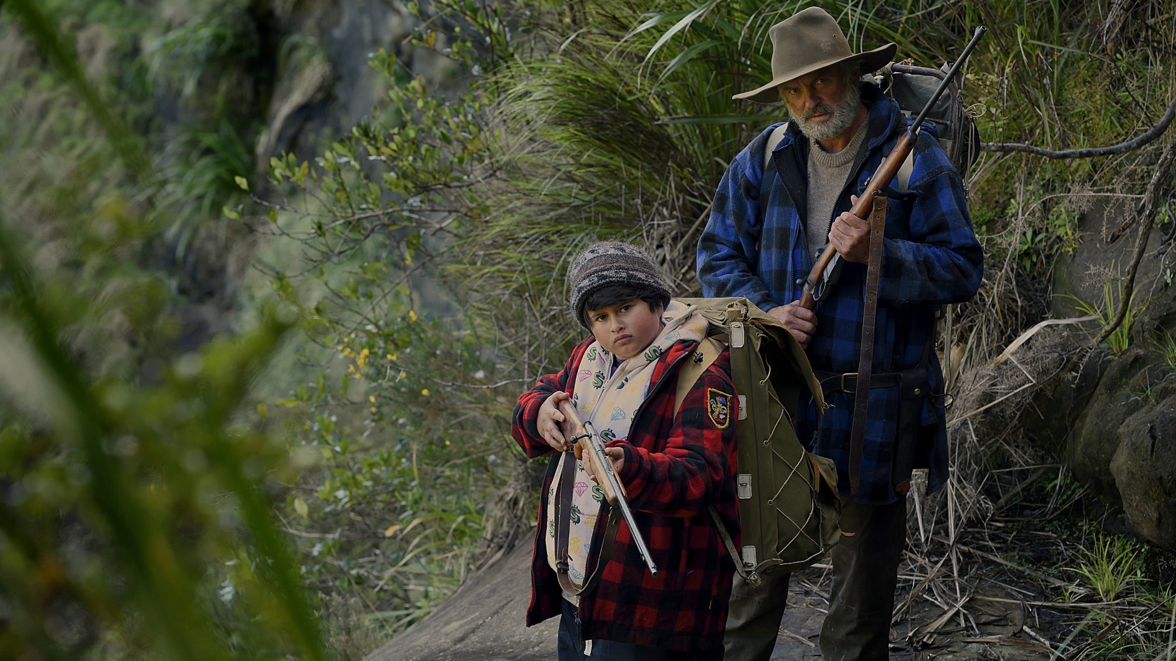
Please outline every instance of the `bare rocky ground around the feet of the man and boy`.
[{"label": "bare rocky ground around the feet of the man and boy", "polygon": [[[372,653],[367,661],[554,661],[559,619],[530,628],[522,623],[530,599],[529,562],[530,545],[516,546],[470,579],[420,625]],[[823,566],[793,575],[788,609],[771,659],[821,659],[816,646],[829,606],[829,570]],[[907,580],[904,589],[900,588],[900,603],[911,585],[914,581]],[[1028,599],[1024,595],[1017,597],[995,581],[981,580],[981,587],[965,605],[967,614],[954,615],[933,640],[915,648],[907,643],[910,630],[943,614],[942,608],[931,603],[934,597],[916,599],[909,613],[903,613],[895,625],[891,660],[1049,659],[1050,650],[1034,640],[1029,630],[1056,645],[1055,626],[1063,617],[1061,613],[1023,603],[1021,599]]]}]

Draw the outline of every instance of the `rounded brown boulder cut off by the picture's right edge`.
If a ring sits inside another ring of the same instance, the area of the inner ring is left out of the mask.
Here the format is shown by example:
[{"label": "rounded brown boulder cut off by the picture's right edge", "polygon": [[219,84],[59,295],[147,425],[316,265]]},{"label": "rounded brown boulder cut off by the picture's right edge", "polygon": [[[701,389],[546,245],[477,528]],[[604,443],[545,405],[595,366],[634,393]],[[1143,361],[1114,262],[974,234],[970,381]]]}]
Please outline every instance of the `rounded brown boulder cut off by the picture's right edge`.
[{"label": "rounded brown boulder cut off by the picture's right edge", "polygon": [[1110,463],[1131,532],[1176,550],[1176,395],[1149,405],[1118,428]]}]

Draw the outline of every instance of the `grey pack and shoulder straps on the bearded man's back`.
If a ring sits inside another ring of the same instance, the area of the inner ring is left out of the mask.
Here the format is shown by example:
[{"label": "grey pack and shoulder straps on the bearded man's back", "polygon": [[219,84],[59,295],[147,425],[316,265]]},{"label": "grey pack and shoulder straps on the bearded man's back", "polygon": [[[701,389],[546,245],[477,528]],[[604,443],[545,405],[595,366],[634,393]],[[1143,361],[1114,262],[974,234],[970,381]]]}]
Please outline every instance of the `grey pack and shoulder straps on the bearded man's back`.
[{"label": "grey pack and shoulder straps on the bearded man's back", "polygon": [[[938,88],[948,68],[950,68],[948,65],[937,71],[891,62],[873,74],[863,75],[862,81],[877,85],[883,94],[897,101],[903,115],[916,116]],[[976,129],[976,122],[964,107],[960,87],[962,79],[960,75],[948,86],[931,112],[927,114],[927,119],[935,125],[931,135],[938,140],[940,147],[943,147],[960,176],[967,179],[968,169],[980,158],[980,131]],[[771,152],[780,145],[787,128],[787,123],[779,126],[768,136],[767,148],[763,152],[764,172],[768,169]],[[906,192],[910,187],[910,173],[914,167],[915,153],[911,152],[894,178],[898,191]]]}]

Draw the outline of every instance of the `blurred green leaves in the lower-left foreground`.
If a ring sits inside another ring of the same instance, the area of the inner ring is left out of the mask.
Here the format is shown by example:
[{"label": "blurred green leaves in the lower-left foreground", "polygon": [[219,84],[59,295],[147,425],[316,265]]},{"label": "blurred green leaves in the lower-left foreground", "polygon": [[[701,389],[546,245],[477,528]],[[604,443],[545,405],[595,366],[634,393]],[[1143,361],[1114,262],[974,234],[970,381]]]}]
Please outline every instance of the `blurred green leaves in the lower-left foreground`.
[{"label": "blurred green leaves in the lower-left foreground", "polygon": [[[131,312],[126,301],[85,305],[52,276],[32,276],[11,232],[2,239],[0,307],[12,325],[5,350],[27,356],[5,374],[9,392],[25,393],[19,409],[7,410],[0,452],[13,496],[0,512],[0,581],[13,622],[0,636],[6,655],[85,650],[89,627],[72,640],[54,635],[55,619],[71,608],[129,625],[133,640],[168,656],[226,655],[198,585],[211,559],[247,540],[260,563],[242,587],[283,639],[275,649],[325,657],[268,503],[267,483],[294,466],[268,435],[233,422],[288,322],[266,314],[255,330],[179,358],[156,386],[89,374],[60,342],[64,322],[92,323],[95,308]],[[149,300],[155,282],[123,287],[128,300]],[[140,319],[149,327],[152,318]],[[232,507],[209,500],[218,492]],[[53,526],[51,512],[76,523]],[[226,526],[226,516],[236,522]],[[127,621],[127,607],[140,622]]]}]

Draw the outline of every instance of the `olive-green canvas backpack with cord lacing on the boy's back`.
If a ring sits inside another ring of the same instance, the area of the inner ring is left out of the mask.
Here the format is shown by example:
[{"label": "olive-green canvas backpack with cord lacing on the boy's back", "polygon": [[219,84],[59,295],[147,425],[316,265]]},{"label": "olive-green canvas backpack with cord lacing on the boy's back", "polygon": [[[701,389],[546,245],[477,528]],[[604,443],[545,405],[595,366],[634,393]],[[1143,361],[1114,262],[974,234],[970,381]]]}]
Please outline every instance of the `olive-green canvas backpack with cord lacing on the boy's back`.
[{"label": "olive-green canvas backpack with cord lacing on the boy's back", "polygon": [[807,452],[793,419],[804,385],[824,401],[800,343],[779,320],[744,298],[675,299],[697,306],[710,323],[707,339],[679,372],[675,410],[699,376],[730,349],[731,381],[739,398],[736,492],[743,538],[735,549],[717,512],[728,553],[748,585],[760,574],[784,573],[821,560],[841,539],[841,498],[833,461]]}]

